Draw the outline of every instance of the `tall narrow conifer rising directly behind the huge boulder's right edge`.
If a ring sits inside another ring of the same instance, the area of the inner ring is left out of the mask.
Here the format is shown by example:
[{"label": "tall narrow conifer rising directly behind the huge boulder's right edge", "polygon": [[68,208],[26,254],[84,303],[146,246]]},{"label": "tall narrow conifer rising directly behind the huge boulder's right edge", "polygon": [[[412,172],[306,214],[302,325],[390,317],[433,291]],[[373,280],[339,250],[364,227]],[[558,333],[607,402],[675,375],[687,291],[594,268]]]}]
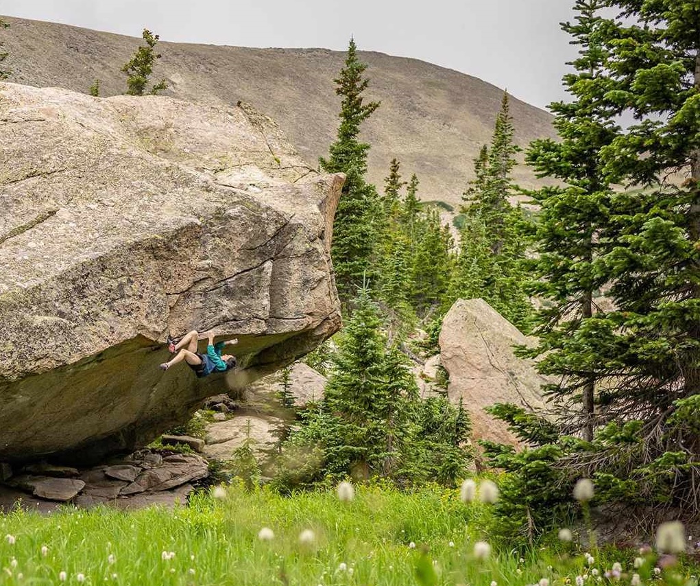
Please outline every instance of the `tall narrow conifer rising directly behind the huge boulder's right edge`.
[{"label": "tall narrow conifer rising directly behind the huge boulder's right edge", "polygon": [[324,171],[346,174],[335,212],[331,247],[341,299],[353,297],[365,275],[370,280],[374,276],[372,259],[377,243],[379,198],[374,186],[365,182],[370,145],[360,142],[359,135],[360,124],[379,107],[379,102],[364,103],[363,92],[369,85],[369,80],[363,78],[365,69],[367,65],[358,59],[355,41],[350,39],[345,67],[334,80],[335,93],[342,96],[337,139],[330,145],[329,157],[319,159]]}]

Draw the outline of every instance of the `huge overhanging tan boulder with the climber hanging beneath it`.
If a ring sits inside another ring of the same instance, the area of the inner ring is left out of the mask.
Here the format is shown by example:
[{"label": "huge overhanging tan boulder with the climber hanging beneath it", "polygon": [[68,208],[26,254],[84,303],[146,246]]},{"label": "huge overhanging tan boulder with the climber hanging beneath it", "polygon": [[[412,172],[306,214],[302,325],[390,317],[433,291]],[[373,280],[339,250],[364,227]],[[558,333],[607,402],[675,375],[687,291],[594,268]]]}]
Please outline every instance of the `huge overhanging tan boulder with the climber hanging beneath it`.
[{"label": "huge overhanging tan boulder with the climber hanging beneath it", "polygon": [[[0,83],[0,461],[134,449],[337,331],[342,180],[245,104]],[[190,329],[239,367],[161,372]]]}]

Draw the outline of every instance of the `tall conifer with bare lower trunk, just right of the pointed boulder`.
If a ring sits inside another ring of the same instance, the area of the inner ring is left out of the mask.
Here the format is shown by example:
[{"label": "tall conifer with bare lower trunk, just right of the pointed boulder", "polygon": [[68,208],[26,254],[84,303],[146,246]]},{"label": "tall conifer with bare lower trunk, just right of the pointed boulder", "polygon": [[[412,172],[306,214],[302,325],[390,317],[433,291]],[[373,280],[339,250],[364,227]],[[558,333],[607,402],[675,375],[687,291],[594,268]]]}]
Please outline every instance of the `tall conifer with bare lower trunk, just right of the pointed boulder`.
[{"label": "tall conifer with bare lower trunk, just right of the pointed boulder", "polygon": [[544,354],[540,372],[556,375],[557,383],[549,386],[554,398],[582,405],[579,414],[566,409],[561,418],[567,430],[582,430],[588,441],[593,439],[594,389],[601,376],[592,356],[601,317],[594,319],[594,295],[606,280],[596,262],[604,254],[601,233],[608,224],[611,195],[599,151],[619,130],[603,100],[610,85],[604,76],[608,53],[597,40],[604,5],[604,0],[577,0],[575,22],[562,24],[571,43],[580,47],[579,57],[570,63],[574,71],[563,78],[573,101],[549,106],[560,139],[537,140],[526,156],[538,177],[563,182],[531,193],[540,208],[533,293],[544,306],[535,330],[540,346],[530,354]]}]

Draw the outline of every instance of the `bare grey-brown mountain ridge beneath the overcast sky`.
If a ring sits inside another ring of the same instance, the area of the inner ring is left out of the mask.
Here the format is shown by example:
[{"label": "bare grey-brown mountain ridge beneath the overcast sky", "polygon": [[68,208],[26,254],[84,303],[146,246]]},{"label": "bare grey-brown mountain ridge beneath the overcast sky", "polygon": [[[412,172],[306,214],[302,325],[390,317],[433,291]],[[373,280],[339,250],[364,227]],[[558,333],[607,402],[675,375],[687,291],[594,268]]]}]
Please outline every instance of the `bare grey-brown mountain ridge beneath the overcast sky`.
[{"label": "bare grey-brown mountain ridge beneath the overcast sky", "polygon": [[[6,64],[13,69],[9,81],[87,93],[99,79],[102,96],[124,93],[120,67],[141,39],[52,22],[3,20],[10,23],[1,33],[10,52]],[[167,79],[166,95],[196,102],[249,102],[279,123],[311,165],[328,153],[339,111],[332,80],[344,53],[165,41],[158,49],[162,59],[153,79]],[[423,200],[458,204],[472,177],[472,161],[491,138],[503,90],[420,60],[362,51],[360,58],[368,64],[366,99],[381,100],[363,130],[363,139],[372,144],[370,180],[381,190],[395,156],[405,178],[418,175]],[[511,111],[521,147],[554,136],[552,116],[542,109],[513,98]],[[524,165],[514,176],[526,187],[536,183]]]}]

